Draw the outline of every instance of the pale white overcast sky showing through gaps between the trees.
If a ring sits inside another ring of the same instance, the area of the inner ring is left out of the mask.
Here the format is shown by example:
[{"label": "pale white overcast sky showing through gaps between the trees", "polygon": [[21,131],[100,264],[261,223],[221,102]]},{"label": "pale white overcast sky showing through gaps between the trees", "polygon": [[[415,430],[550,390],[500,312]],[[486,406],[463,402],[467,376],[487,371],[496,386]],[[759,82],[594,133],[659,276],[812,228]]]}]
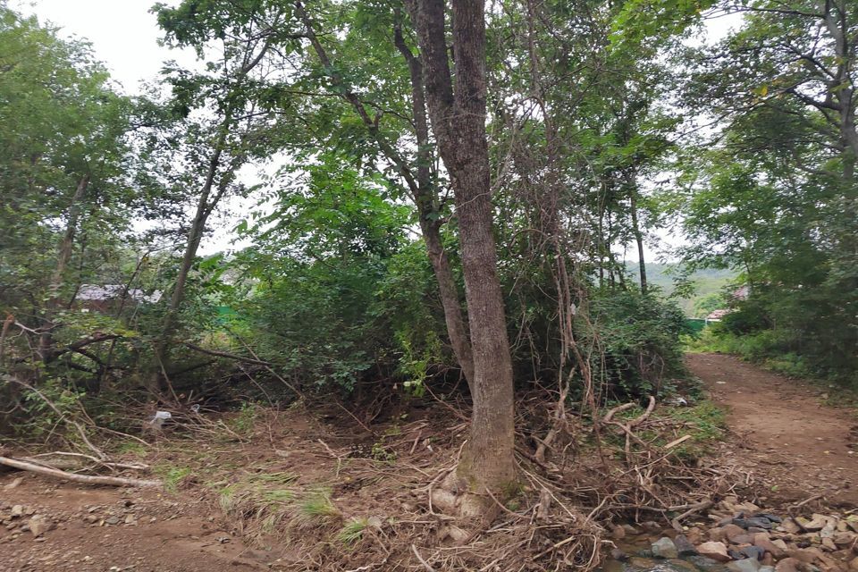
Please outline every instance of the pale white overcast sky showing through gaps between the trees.
[{"label": "pale white overcast sky showing through gaps between the trees", "polygon": [[[161,0],[164,4],[178,4],[177,0]],[[114,80],[128,95],[139,93],[142,81],[155,80],[167,60],[175,60],[185,67],[193,67],[196,55],[192,50],[172,50],[158,45],[161,31],[156,17],[149,13],[156,0],[11,0],[10,7],[24,13],[35,14],[42,23],[51,22],[60,28],[60,35],[87,39],[97,59],[105,63]],[[723,37],[738,23],[736,15],[717,18],[707,23],[709,41]],[[247,212],[251,201],[231,201],[226,205],[232,212]],[[234,238],[229,231],[238,221],[224,220],[215,224],[220,228],[206,237],[200,245],[200,254],[213,254],[224,249],[240,248],[246,244],[231,244]],[[658,256],[656,242],[676,245],[679,238],[670,232],[657,233],[650,241],[646,257]],[[627,253],[635,257],[635,253]]]}]

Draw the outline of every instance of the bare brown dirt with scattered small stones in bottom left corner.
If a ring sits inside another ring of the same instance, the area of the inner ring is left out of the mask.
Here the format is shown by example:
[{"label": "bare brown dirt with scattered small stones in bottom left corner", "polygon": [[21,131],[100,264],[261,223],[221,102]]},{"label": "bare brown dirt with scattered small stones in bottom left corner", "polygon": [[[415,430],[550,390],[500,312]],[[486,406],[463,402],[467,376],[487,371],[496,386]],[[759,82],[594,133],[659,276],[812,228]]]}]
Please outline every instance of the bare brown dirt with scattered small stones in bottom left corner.
[{"label": "bare brown dirt with scattered small stones in bottom left corner", "polygon": [[[20,484],[5,488],[17,479]],[[16,507],[17,505],[17,507]],[[13,517],[16,509],[21,517]],[[34,537],[35,515],[53,529]],[[277,555],[249,550],[198,499],[152,490],[57,483],[0,474],[3,572],[213,572],[269,570]],[[23,529],[23,530],[22,530]]]}]

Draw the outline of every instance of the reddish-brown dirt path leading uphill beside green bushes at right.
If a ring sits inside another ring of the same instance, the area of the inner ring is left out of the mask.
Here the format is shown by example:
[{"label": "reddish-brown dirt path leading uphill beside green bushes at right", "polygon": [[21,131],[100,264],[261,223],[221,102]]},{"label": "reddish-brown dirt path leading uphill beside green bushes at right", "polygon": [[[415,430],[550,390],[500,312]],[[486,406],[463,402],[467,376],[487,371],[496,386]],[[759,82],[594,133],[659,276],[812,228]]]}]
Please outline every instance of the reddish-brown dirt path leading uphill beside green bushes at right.
[{"label": "reddish-brown dirt path leading uphill beside green bushes at right", "polygon": [[858,416],[826,407],[824,391],[736,357],[692,354],[688,366],[728,408],[724,462],[746,470],[778,501],[825,494],[858,506]]}]

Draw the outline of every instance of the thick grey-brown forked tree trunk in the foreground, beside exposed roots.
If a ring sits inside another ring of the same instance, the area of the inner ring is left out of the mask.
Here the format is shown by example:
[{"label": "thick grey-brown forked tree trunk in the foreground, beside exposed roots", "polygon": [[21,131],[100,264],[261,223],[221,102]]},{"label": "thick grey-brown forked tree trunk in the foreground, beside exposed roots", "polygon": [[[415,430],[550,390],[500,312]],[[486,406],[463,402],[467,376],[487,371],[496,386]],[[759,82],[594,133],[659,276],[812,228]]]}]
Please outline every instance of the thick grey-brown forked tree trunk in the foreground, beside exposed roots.
[{"label": "thick grey-brown forked tree trunk in the foreground, beside exposed roots", "polygon": [[[485,134],[484,4],[452,1],[455,91],[445,41],[443,0],[415,0],[426,97],[435,137],[456,195],[465,296],[474,354],[471,434],[459,463],[467,492],[509,490],[516,481],[512,360],[492,233],[488,143]],[[461,490],[461,489],[459,489]],[[482,501],[482,502],[481,502]],[[486,509],[466,495],[463,514]]]}]

